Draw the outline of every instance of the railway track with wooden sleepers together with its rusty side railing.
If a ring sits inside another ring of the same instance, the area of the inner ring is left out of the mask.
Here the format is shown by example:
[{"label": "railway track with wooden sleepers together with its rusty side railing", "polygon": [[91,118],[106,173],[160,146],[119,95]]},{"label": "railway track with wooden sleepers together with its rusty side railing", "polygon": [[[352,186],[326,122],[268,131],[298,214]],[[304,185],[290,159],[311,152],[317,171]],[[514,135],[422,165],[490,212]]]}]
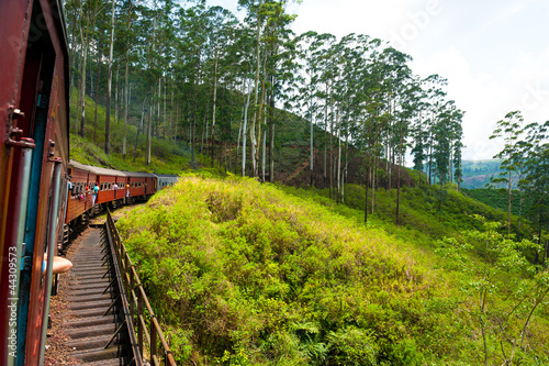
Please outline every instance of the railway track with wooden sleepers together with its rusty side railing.
[{"label": "railway track with wooden sleepers together with its rusty side railing", "polygon": [[107,218],[68,251],[72,268],[59,280],[54,320],[56,339],[66,341],[52,364],[176,366],[109,211]]}]

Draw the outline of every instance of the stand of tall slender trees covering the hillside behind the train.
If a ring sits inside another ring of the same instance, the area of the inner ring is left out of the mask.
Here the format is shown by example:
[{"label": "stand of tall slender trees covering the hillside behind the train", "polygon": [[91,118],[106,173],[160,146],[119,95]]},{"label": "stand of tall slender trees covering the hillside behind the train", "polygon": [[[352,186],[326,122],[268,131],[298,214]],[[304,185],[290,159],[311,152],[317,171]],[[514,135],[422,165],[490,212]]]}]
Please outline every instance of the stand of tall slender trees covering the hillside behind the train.
[{"label": "stand of tall slender trees covering the hillside behind the train", "polygon": [[[287,123],[280,108],[309,121],[300,148],[310,185],[328,186],[338,201],[351,179],[371,191],[394,187],[410,147],[426,182],[459,185],[463,111],[447,98],[447,80],[415,75],[411,57],[383,40],[293,34],[289,3],[240,0],[240,21],[205,1],[67,0],[71,132],[92,133],[111,154],[111,120],[133,123],[147,136],[147,164],[156,136],[272,181],[274,136]],[[85,125],[85,96],[107,106],[103,131],[97,117]],[[115,152],[124,158],[125,131]]]}]

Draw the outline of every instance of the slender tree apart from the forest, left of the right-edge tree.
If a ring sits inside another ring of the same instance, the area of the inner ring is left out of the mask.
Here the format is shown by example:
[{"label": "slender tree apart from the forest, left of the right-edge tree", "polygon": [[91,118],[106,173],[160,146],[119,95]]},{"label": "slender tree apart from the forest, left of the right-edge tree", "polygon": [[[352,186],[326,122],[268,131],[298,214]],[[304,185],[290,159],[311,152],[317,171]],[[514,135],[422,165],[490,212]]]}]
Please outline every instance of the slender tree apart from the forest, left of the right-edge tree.
[{"label": "slender tree apart from the forest, left of the right-edge tree", "polygon": [[497,122],[497,127],[490,136],[493,138],[503,138],[503,149],[494,155],[494,158],[501,159],[497,176],[491,177],[492,185],[504,184],[507,188],[507,235],[511,236],[511,204],[513,195],[513,180],[518,171],[523,169],[524,156],[522,151],[520,137],[524,133],[525,122],[520,111],[513,111]]}]

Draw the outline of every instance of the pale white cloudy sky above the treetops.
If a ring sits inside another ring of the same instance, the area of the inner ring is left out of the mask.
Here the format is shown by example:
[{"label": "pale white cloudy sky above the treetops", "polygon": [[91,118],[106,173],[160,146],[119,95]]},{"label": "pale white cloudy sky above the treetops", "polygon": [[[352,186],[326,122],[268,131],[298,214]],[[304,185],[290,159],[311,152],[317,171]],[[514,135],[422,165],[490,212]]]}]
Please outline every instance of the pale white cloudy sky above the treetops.
[{"label": "pale white cloudy sky above the treetops", "polygon": [[[237,0],[208,0],[237,13]],[[463,118],[463,159],[490,159],[497,121],[519,110],[526,123],[549,120],[547,0],[303,0],[296,34],[367,34],[413,57],[414,74],[448,79]]]}]

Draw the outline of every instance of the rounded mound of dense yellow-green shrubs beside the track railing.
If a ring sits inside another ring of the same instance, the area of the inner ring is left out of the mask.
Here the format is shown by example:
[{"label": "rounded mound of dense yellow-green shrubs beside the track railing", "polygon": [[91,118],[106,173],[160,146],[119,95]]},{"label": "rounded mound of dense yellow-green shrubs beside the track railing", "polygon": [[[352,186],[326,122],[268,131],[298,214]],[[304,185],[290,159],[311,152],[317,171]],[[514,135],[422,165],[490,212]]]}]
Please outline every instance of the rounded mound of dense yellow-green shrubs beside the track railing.
[{"label": "rounded mound of dense yellow-green shrubs beside the track railing", "polygon": [[389,235],[284,190],[186,176],[119,221],[181,364],[479,363],[474,299],[411,245],[415,223]]}]

